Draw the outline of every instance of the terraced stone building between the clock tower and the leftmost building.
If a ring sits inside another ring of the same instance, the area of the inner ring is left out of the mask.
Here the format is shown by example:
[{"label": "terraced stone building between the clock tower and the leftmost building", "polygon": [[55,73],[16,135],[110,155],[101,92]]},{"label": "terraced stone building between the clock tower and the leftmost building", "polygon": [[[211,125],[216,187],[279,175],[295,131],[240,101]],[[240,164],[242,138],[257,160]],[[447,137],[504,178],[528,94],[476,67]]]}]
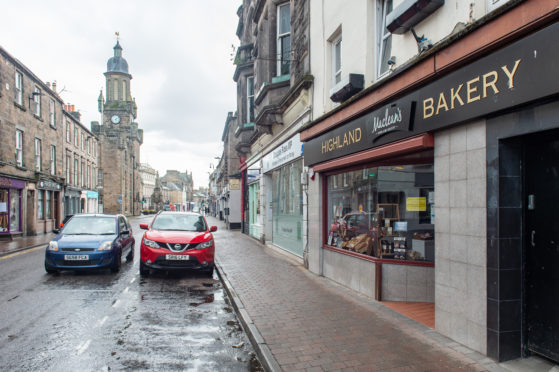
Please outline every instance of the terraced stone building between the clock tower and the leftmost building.
[{"label": "terraced stone building between the clock tower and the leftmost building", "polygon": [[99,144],[80,121],[73,105],[64,105],[64,214],[99,212],[97,158]]}]

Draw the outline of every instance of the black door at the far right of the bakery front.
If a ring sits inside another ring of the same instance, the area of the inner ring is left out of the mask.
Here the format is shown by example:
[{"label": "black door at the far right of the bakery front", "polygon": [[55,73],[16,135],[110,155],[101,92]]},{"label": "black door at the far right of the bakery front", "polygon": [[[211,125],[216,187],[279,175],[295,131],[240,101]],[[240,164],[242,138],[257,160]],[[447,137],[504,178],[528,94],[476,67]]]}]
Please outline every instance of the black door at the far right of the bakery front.
[{"label": "black door at the far right of the bakery front", "polygon": [[526,343],[559,361],[559,132],[525,149]]}]

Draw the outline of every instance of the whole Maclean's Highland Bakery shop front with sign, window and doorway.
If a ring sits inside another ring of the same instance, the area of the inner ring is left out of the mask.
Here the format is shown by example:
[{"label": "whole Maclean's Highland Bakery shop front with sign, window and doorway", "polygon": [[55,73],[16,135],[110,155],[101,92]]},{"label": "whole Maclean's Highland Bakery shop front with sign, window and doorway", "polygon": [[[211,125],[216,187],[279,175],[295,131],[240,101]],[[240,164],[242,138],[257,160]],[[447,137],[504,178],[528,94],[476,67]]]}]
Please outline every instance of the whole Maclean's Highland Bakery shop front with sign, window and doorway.
[{"label": "whole Maclean's Highland Bakery shop front with sign, window and doorway", "polygon": [[540,20],[490,47],[480,27],[477,54],[441,47],[300,133],[309,270],[433,303],[437,332],[499,361],[559,360],[559,23]]}]

